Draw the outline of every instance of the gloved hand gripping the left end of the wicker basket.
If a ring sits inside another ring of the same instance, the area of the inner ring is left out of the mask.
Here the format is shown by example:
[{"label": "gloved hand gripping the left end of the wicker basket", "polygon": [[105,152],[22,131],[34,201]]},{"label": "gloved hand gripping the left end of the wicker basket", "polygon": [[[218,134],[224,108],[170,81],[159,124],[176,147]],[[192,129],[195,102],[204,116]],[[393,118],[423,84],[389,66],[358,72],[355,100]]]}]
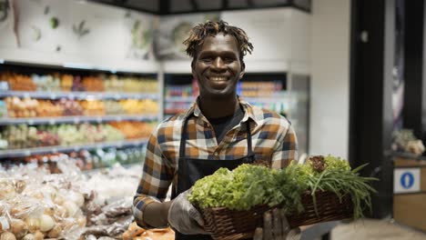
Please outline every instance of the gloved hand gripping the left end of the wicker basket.
[{"label": "gloved hand gripping the left end of the wicker basket", "polygon": [[168,224],[184,235],[208,235],[203,229],[203,216],[189,203],[190,189],[177,195],[168,209]]}]

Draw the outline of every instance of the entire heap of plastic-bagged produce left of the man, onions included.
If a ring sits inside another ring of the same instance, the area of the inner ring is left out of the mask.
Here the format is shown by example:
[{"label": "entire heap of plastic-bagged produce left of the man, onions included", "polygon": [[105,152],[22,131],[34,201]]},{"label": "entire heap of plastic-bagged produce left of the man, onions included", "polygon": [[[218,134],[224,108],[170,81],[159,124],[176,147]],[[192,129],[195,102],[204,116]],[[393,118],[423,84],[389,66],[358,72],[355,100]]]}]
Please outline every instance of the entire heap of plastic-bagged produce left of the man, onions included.
[{"label": "entire heap of plastic-bagged produce left of the man, onions included", "polygon": [[0,169],[0,239],[123,239],[127,231],[127,239],[146,240],[171,231],[131,227],[141,165],[89,173],[73,161],[57,165],[61,174],[29,165]]}]

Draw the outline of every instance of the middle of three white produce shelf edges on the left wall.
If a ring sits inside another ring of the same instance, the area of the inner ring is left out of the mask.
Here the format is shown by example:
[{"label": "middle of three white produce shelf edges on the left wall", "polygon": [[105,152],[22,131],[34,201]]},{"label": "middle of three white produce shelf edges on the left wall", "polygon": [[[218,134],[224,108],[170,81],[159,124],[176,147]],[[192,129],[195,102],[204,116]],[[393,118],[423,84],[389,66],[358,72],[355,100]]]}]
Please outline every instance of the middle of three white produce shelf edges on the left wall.
[{"label": "middle of three white produce shelf edges on the left wall", "polygon": [[158,115],[102,115],[102,116],[49,116],[49,117],[5,117],[0,118],[0,125],[56,125],[78,123],[103,123],[111,121],[155,121]]}]

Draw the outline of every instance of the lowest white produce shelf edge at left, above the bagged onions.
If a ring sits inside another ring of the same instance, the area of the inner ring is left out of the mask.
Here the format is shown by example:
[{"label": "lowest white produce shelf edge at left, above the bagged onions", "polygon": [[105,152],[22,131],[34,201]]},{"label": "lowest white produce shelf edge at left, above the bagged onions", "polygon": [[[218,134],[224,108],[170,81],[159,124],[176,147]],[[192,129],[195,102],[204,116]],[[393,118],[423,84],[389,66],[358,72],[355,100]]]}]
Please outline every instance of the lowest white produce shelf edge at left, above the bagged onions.
[{"label": "lowest white produce shelf edge at left, above the bagged onions", "polygon": [[56,145],[56,146],[43,146],[43,147],[32,147],[22,149],[11,149],[11,150],[0,150],[0,157],[24,157],[29,155],[40,155],[40,154],[51,154],[58,152],[72,152],[80,150],[90,150],[106,147],[129,147],[147,144],[147,138],[134,139],[134,140],[123,140],[114,142],[103,142],[96,144],[84,144],[84,145]]}]

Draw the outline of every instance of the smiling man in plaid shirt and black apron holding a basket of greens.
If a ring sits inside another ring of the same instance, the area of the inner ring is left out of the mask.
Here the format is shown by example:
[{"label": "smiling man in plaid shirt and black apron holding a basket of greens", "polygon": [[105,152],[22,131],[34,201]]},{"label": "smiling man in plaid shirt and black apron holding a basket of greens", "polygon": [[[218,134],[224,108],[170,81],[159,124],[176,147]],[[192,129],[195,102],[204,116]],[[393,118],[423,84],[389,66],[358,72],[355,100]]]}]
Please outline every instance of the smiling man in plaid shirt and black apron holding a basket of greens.
[{"label": "smiling man in plaid shirt and black apron holding a basket of greens", "polygon": [[[246,69],[244,55],[253,50],[242,29],[223,21],[207,22],[196,25],[184,44],[192,57],[199,96],[187,112],[164,121],[150,136],[133,210],[138,225],[171,225],[177,240],[212,239],[187,200],[191,186],[220,167],[285,167],[297,159],[297,140],[285,117],[249,105],[237,95]],[[165,202],[170,185],[172,200]],[[285,239],[287,221],[275,212],[265,215],[266,225],[257,231],[257,239]]]}]

